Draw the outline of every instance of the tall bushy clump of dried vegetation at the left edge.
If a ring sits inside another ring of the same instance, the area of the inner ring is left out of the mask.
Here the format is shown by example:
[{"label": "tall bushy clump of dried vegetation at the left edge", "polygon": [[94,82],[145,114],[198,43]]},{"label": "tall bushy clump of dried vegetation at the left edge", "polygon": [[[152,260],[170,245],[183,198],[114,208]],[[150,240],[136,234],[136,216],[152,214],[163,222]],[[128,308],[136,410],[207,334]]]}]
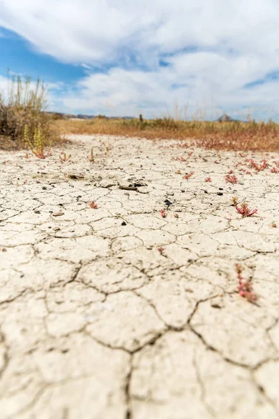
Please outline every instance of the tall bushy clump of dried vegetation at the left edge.
[{"label": "tall bushy clump of dried vegetation at the left edge", "polygon": [[30,148],[45,156],[45,149],[61,142],[53,118],[45,112],[45,84],[40,79],[32,82],[31,78],[8,75],[7,87],[5,94],[0,93],[0,148]]}]

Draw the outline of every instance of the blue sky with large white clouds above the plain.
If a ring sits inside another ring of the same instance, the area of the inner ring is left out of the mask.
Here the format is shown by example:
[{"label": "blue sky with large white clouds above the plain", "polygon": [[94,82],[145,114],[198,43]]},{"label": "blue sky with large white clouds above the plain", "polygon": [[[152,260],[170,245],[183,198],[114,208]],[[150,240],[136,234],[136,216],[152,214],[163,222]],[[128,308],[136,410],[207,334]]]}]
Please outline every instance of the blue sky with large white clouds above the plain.
[{"label": "blue sky with large white clouds above the plain", "polygon": [[279,116],[278,0],[0,0],[0,53],[50,110]]}]

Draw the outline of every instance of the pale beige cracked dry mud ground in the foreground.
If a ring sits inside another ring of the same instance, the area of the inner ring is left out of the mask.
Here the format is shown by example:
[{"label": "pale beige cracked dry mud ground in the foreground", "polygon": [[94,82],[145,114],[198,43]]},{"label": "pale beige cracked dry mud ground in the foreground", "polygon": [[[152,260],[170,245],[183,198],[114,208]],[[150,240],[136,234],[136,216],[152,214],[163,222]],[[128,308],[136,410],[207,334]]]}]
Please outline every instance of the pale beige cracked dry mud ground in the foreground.
[{"label": "pale beige cracked dry mud ground in the foreground", "polygon": [[105,156],[71,138],[46,160],[0,152],[1,419],[279,418],[278,174],[175,141],[103,136]]}]

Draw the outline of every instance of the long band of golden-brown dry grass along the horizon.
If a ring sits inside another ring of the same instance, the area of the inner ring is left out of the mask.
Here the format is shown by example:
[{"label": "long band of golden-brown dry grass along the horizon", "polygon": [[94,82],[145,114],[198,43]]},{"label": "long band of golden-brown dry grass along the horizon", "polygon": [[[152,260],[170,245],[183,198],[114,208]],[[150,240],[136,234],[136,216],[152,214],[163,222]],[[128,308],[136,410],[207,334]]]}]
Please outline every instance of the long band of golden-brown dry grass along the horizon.
[{"label": "long band of golden-brown dry grass along the horizon", "polygon": [[[179,121],[171,117],[153,120],[87,119],[57,120],[54,128],[61,134],[96,135],[102,122],[102,134],[127,135],[150,139],[193,140],[192,145],[206,149],[279,151],[279,124],[275,122],[199,122]],[[189,144],[181,141],[181,147]]]}]

